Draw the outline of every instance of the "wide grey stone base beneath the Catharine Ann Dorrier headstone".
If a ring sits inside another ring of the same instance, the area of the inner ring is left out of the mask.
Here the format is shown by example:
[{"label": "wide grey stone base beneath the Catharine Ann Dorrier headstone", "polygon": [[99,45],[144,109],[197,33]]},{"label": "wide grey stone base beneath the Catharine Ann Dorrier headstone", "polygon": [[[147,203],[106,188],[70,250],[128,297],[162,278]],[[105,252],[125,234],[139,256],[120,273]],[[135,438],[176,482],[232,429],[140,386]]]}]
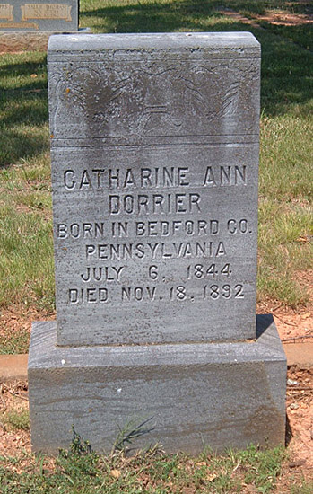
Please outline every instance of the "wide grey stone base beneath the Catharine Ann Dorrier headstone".
[{"label": "wide grey stone base beneath the Catharine Ann Dorrier headstone", "polygon": [[135,448],[196,454],[210,445],[283,444],[286,358],[271,315],[256,342],[57,347],[56,322],[35,322],[29,356],[31,442],[56,454],[75,431],[107,453],[145,424]]}]

